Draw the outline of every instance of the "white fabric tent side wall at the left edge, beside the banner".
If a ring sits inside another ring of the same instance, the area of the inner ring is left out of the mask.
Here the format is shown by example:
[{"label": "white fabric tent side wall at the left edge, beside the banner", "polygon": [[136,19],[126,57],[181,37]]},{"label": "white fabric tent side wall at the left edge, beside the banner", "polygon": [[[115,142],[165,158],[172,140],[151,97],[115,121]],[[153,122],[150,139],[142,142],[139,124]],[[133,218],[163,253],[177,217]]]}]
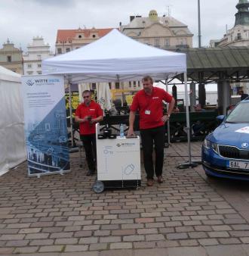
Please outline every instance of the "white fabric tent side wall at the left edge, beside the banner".
[{"label": "white fabric tent side wall at the left edge, beside the banner", "polygon": [[26,160],[20,77],[0,66],[0,176]]}]

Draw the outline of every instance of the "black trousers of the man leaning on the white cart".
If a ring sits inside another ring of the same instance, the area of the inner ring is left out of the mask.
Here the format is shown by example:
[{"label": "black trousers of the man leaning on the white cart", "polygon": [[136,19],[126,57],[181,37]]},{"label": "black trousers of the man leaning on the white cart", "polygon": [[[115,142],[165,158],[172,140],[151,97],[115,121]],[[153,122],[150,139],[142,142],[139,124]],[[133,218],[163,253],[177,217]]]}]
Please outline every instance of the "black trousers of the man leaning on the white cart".
[{"label": "black trousers of the man leaning on the white cart", "polygon": [[154,165],[152,159],[155,144],[155,176],[161,176],[164,164],[164,126],[140,130],[143,145],[143,164],[147,179],[153,179]]}]

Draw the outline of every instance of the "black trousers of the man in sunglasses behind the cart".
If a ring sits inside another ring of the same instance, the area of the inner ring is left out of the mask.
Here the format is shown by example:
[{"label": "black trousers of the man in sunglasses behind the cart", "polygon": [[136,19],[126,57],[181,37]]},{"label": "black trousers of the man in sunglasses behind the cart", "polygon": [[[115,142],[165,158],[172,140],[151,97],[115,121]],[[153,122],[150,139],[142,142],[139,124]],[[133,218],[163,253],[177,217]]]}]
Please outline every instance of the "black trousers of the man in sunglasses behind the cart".
[{"label": "black trousers of the man in sunglasses behind the cart", "polygon": [[88,163],[88,168],[91,171],[96,170],[96,135],[81,135],[81,140],[83,142],[83,146],[85,148],[85,158]]}]

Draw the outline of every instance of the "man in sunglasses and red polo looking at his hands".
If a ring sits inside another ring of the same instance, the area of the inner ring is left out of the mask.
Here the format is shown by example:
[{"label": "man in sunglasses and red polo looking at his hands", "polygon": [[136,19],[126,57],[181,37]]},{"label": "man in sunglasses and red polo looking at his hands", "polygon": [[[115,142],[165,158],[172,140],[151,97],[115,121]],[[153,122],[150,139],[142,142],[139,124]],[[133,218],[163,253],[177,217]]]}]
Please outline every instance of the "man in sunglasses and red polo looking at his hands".
[{"label": "man in sunglasses and red polo looking at his hands", "polygon": [[103,110],[95,101],[91,100],[91,92],[85,90],[82,93],[84,102],[78,105],[75,111],[75,122],[79,123],[79,133],[85,148],[85,158],[88,163],[87,176],[96,171],[96,131],[95,123],[103,120]]}]

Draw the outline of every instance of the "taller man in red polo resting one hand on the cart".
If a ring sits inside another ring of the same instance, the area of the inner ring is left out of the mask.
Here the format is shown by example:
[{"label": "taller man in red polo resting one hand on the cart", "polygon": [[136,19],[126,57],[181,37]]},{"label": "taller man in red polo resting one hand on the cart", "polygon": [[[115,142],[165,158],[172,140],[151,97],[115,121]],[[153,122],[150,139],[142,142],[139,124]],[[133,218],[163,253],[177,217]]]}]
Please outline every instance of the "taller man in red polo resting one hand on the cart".
[{"label": "taller man in red polo resting one hand on the cart", "polygon": [[[136,111],[138,110],[140,114],[140,134],[143,145],[143,163],[147,174],[147,185],[153,186],[153,143],[155,144],[155,176],[157,176],[158,183],[162,183],[164,123],[171,116],[175,100],[164,89],[153,87],[151,76],[143,77],[142,83],[143,89],[134,96],[130,108],[128,136],[134,135],[134,120]],[[163,114],[162,101],[169,102],[168,113],[165,115]]]}]

